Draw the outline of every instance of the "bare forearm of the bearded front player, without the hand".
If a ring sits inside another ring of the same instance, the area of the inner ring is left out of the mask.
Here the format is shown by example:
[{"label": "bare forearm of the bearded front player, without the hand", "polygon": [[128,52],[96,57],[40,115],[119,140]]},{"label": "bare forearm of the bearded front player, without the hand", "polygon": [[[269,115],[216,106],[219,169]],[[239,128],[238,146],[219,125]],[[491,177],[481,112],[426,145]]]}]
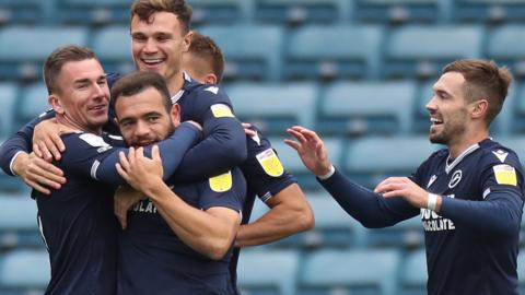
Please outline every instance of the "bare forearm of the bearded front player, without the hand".
[{"label": "bare forearm of the bearded front player, without the hand", "polygon": [[190,206],[161,179],[143,192],[150,197],[177,237],[197,252],[219,260],[230,249],[237,226]]}]

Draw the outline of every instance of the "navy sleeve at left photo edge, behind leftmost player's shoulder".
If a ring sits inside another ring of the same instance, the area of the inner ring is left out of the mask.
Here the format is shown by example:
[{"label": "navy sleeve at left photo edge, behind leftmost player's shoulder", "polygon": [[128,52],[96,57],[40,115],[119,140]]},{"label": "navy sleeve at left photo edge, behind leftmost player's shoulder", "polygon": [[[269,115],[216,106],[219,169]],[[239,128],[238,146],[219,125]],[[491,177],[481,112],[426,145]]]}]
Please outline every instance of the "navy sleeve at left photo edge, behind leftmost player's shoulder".
[{"label": "navy sleeve at left photo edge, behind leftmost player's shoulder", "polygon": [[31,153],[33,151],[33,132],[35,126],[40,121],[55,117],[55,111],[48,110],[37,118],[23,126],[14,135],[10,137],[0,146],[0,166],[2,170],[13,176],[12,161],[20,152]]}]

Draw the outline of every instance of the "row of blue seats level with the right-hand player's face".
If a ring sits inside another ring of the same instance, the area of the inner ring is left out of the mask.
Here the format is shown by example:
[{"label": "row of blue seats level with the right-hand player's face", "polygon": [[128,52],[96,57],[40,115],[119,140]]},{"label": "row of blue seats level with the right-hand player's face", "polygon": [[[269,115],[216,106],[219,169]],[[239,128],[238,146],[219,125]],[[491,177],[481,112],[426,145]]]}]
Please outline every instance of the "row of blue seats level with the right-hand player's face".
[{"label": "row of blue seats level with the right-hand player's face", "polygon": [[[225,84],[237,117],[267,135],[282,135],[302,125],[324,135],[427,134],[425,104],[434,81],[312,82]],[[0,138],[49,108],[45,84],[0,83]],[[492,125],[498,135],[525,132],[525,84],[511,88],[502,113]]]}]

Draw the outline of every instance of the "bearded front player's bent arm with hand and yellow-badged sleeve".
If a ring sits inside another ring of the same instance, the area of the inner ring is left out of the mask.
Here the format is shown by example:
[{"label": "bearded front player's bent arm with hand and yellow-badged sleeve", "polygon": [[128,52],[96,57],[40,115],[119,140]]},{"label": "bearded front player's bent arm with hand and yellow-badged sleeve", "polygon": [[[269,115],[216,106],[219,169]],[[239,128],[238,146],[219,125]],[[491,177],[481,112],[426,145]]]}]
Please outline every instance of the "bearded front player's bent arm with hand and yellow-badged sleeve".
[{"label": "bearded front player's bent arm with hand and yellow-badged sleeve", "polygon": [[[230,173],[219,176],[230,179],[210,179],[210,190],[200,192],[200,199],[209,201],[200,201],[199,205],[203,209],[200,210],[187,204],[164,184],[161,162],[155,154],[152,160],[136,154],[129,157],[129,162],[122,163],[119,170],[135,189],[154,202],[178,238],[210,259],[221,259],[230,249],[241,223],[238,210],[242,204],[235,200],[242,200],[245,191],[234,190],[233,186],[238,180],[232,184]],[[222,202],[221,205],[218,202]]]}]

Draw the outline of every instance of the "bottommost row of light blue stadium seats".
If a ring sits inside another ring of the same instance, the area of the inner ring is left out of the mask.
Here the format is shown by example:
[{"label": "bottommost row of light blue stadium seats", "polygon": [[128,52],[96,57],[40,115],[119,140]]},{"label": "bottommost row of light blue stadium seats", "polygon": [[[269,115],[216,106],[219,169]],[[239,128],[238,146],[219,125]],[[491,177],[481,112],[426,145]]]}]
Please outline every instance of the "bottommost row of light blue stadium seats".
[{"label": "bottommost row of light blue stadium seats", "polygon": [[[522,252],[525,249],[522,249]],[[49,279],[45,250],[13,250],[0,256],[0,295],[42,294]],[[521,294],[525,259],[518,258]],[[249,295],[423,295],[424,250],[407,255],[395,249],[244,250],[238,285]]]}]

